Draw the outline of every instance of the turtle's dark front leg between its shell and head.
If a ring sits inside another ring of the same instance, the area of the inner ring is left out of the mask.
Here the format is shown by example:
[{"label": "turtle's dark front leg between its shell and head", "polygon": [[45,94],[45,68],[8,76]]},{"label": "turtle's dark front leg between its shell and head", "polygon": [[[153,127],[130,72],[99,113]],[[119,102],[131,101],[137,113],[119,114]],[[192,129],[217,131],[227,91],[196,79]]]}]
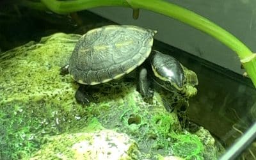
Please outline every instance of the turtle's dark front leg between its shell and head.
[{"label": "turtle's dark front leg between its shell and head", "polygon": [[137,90],[141,93],[145,101],[152,101],[154,92],[150,88],[150,80],[148,79],[148,71],[145,67],[138,68]]}]

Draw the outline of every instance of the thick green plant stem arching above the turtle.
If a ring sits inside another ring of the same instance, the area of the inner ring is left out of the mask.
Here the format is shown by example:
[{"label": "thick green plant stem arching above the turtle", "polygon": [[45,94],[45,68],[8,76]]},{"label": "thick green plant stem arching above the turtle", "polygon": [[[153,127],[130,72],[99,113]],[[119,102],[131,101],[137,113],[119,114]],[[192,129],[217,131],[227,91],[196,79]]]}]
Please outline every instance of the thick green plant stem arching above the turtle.
[{"label": "thick green plant stem arching above the turtle", "polygon": [[[131,8],[142,8],[151,10],[156,13],[161,13],[173,19],[177,19],[185,24],[189,24],[200,31],[213,36],[230,49],[237,53],[239,58],[243,60],[252,55],[252,51],[246,47],[242,42],[225,29],[220,28],[213,22],[204,17],[186,10],[180,6],[168,3],[163,0],[76,0],[76,1],[57,1],[57,0],[41,0],[42,3],[56,13],[70,13],[88,8],[95,8],[99,6],[125,6]],[[256,60],[244,63],[244,68],[253,81],[256,87]]]}]

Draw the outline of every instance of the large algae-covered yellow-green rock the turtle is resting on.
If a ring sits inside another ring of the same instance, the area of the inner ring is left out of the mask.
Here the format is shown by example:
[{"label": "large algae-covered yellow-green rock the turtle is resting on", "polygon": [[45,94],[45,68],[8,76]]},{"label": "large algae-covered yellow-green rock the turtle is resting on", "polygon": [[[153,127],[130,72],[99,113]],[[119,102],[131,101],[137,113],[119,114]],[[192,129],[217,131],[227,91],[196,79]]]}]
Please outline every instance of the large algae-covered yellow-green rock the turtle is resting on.
[{"label": "large algae-covered yellow-green rock the turtle is resting on", "polygon": [[[79,37],[56,33],[2,54],[0,159],[39,155],[79,159],[78,153],[90,150],[77,147],[90,144],[97,150],[97,140],[99,145],[111,140],[128,159],[159,159],[159,155],[203,159],[204,144],[195,134],[184,132],[177,115],[188,107],[188,97],[157,89],[153,102],[147,103],[136,91],[134,77],[129,77],[86,88],[93,102],[77,104],[78,84],[69,75],[61,76],[60,68],[67,64]],[[121,139],[116,143],[118,136]],[[110,139],[104,141],[104,137]],[[44,154],[45,149],[51,154]],[[106,152],[109,156],[111,147],[100,149],[103,157]]]}]

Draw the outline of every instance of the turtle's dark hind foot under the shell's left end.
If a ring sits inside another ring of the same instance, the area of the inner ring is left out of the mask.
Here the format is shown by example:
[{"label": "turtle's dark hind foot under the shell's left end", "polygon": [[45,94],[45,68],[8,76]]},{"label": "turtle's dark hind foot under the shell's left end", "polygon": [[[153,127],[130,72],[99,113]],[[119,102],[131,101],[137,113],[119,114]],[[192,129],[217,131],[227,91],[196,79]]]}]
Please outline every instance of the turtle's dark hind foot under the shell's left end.
[{"label": "turtle's dark hind foot under the shell's left end", "polygon": [[76,91],[76,101],[83,106],[88,106],[93,101],[93,96],[88,92],[88,86],[81,85]]}]

